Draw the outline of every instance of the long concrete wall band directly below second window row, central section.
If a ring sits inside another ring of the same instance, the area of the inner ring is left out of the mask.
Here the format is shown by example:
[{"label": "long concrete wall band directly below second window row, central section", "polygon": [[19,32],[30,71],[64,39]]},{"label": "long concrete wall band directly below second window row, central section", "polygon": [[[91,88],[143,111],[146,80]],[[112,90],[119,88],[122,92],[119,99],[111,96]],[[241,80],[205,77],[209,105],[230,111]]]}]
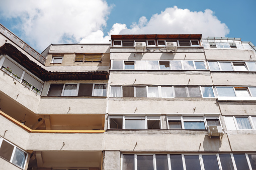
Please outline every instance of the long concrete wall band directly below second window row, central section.
[{"label": "long concrete wall band directly below second window row, central section", "polygon": [[[136,79],[136,81],[135,81]],[[190,81],[189,81],[190,80]],[[134,82],[135,81],[135,82]],[[110,85],[212,85],[205,71],[111,71]]]}]

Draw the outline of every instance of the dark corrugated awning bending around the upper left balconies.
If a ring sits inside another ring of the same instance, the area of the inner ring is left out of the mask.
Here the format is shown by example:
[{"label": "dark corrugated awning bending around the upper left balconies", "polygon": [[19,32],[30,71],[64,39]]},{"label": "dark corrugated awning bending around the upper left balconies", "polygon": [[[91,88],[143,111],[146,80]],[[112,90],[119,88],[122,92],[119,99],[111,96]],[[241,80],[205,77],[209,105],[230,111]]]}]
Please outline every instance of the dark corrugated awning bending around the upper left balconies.
[{"label": "dark corrugated awning bending around the upper left balconies", "polygon": [[108,80],[108,71],[84,71],[84,72],[51,72],[42,68],[12,44],[5,43],[0,47],[0,54],[7,54],[21,66],[29,70],[43,81],[49,80]]}]

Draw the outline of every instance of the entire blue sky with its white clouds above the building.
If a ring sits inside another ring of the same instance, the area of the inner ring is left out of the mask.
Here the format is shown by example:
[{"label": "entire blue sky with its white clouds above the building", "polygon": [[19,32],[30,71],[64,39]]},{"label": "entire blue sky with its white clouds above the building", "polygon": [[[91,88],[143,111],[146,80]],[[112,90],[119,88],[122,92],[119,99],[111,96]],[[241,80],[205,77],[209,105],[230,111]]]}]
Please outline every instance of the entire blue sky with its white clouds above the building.
[{"label": "entire blue sky with its white clouds above the building", "polygon": [[108,43],[111,34],[201,33],[256,44],[255,0],[10,0],[1,4],[0,23],[39,52],[50,44]]}]

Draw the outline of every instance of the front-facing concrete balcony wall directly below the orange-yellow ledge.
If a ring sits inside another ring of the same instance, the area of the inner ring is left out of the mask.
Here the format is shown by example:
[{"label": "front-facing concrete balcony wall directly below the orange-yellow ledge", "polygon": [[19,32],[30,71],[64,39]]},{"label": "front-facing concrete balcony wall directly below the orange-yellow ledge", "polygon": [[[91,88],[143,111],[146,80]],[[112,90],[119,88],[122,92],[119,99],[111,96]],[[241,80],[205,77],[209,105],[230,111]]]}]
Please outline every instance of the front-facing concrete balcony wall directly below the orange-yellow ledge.
[{"label": "front-facing concrete balcony wall directly below the orange-yellow ledge", "polygon": [[103,150],[103,139],[103,133],[31,133],[26,148],[62,151]]}]

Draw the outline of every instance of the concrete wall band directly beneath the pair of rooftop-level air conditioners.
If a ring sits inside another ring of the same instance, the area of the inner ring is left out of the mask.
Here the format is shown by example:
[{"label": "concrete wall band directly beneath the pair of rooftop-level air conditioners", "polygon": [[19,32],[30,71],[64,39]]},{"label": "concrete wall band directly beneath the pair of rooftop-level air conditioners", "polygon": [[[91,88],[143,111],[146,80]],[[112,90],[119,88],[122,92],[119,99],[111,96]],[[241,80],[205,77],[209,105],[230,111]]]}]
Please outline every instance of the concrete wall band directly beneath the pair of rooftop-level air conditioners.
[{"label": "concrete wall band directly beneath the pair of rooftop-level air conditioners", "polygon": [[[164,50],[163,50],[164,51]],[[135,56],[134,56],[135,55]],[[186,55],[186,56],[185,56]],[[126,50],[122,50],[119,53],[111,53],[111,60],[205,60],[203,51],[198,50],[195,52],[183,52],[183,53],[166,53],[153,52],[153,53],[128,53]]]}]

